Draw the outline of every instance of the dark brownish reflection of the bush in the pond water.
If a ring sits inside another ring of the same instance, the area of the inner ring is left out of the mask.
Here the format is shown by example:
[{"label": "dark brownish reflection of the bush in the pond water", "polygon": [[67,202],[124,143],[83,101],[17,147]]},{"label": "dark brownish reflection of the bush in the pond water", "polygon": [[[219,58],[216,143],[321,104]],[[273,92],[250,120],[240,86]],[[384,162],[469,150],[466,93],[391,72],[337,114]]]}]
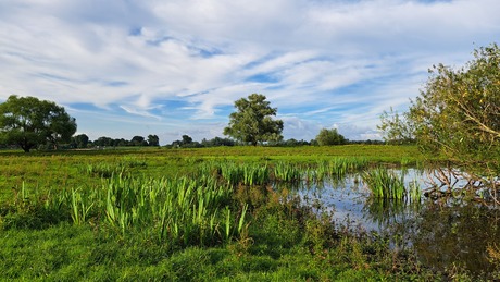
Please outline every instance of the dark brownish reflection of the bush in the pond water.
[{"label": "dark brownish reflection of the bush in the pond water", "polygon": [[487,247],[500,240],[500,210],[477,205],[442,208],[429,203],[420,212],[412,234],[425,265],[488,272]]}]

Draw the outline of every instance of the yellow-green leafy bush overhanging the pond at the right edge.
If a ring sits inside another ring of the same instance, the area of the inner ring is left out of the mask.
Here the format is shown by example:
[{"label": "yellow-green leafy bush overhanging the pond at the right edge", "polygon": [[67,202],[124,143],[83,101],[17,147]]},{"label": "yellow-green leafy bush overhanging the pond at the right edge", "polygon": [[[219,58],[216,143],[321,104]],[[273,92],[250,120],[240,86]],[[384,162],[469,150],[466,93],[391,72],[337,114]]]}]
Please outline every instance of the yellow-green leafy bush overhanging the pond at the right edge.
[{"label": "yellow-green leafy bush overhanging the pond at the right edge", "polygon": [[439,64],[429,72],[407,121],[397,126],[408,128],[408,122],[422,151],[445,156],[482,185],[495,187],[500,175],[499,47],[476,49],[464,68]]}]

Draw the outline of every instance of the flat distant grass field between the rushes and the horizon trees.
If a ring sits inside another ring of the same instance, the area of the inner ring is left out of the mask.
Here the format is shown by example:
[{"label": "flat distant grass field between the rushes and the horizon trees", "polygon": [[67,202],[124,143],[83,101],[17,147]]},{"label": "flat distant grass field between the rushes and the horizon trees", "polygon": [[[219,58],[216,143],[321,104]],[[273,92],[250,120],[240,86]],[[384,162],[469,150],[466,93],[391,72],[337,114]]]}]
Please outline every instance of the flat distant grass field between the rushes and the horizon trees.
[{"label": "flat distant grass field between the rushes and the horizon trees", "polygon": [[[416,146],[347,145],[325,147],[214,147],[197,149],[165,148],[107,148],[102,150],[63,150],[47,152],[0,151],[0,197],[8,196],[11,187],[25,183],[40,188],[77,187],[98,184],[83,173],[88,165],[134,162],[133,173],[149,176],[175,176],[192,172],[196,163],[211,159],[266,163],[289,161],[314,163],[333,157],[363,157],[370,162],[416,164],[423,161]],[[130,165],[129,165],[130,167]]]}]

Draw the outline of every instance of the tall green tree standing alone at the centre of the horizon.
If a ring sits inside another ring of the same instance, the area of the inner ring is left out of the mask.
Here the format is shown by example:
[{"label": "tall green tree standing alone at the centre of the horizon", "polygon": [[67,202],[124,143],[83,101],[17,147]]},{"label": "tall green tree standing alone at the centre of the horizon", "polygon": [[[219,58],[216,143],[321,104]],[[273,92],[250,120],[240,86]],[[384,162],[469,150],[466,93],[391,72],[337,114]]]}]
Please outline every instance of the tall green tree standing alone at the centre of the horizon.
[{"label": "tall green tree standing alone at the centre of the horizon", "polygon": [[283,121],[273,120],[277,109],[270,105],[261,94],[237,100],[237,111],[229,115],[229,125],[224,128],[224,135],[253,146],[263,142],[282,140]]}]

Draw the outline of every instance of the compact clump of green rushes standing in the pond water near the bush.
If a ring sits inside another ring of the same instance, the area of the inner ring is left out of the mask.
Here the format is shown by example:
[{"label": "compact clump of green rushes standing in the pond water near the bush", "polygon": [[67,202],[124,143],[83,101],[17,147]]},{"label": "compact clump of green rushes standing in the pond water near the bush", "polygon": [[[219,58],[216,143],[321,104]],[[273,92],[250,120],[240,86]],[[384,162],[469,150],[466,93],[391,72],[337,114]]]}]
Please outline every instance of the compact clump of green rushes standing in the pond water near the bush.
[{"label": "compact clump of green rushes standing in the pond water near the bush", "polygon": [[403,177],[386,168],[372,169],[362,174],[372,196],[382,199],[403,200],[407,196]]}]

